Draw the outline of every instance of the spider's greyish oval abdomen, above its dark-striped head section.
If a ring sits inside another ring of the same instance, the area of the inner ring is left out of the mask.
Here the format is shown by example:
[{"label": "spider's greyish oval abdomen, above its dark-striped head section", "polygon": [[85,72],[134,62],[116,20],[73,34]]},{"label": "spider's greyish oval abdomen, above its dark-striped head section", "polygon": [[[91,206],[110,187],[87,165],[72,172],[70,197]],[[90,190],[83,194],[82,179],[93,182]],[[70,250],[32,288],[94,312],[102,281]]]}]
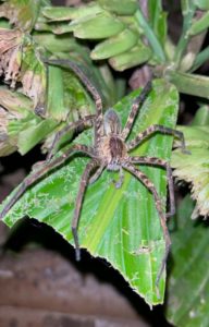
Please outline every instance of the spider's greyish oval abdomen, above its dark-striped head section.
[{"label": "spider's greyish oval abdomen, above its dark-striped head section", "polygon": [[113,109],[108,109],[106,111],[103,117],[103,126],[106,135],[121,133],[121,121]]}]

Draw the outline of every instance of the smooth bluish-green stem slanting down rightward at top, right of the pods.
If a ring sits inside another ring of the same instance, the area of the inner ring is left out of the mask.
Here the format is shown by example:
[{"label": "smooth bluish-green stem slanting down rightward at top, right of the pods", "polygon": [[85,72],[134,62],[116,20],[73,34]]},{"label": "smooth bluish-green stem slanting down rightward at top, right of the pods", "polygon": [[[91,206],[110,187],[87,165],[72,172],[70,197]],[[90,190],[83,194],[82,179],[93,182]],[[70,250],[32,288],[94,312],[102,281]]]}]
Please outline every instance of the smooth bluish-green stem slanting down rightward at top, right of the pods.
[{"label": "smooth bluish-green stem slanting down rightward at top, right of the pods", "polygon": [[160,62],[164,62],[165,61],[165,55],[164,51],[159,43],[159,39],[157,38],[157,36],[155,35],[153,31],[151,29],[151,27],[149,26],[148,22],[146,21],[145,16],[143,15],[143,13],[137,10],[135,13],[135,17],[137,20],[137,23],[140,25],[140,27],[143,28],[157,59]]}]

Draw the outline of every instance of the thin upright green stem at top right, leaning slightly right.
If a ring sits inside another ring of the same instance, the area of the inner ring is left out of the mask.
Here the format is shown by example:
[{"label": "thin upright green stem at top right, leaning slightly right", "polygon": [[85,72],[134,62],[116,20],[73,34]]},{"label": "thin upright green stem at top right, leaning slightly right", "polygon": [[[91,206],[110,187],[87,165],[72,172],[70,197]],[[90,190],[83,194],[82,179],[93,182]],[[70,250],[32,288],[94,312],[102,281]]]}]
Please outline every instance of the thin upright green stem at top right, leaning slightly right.
[{"label": "thin upright green stem at top right, leaning slightly right", "polygon": [[174,61],[177,64],[177,66],[180,65],[182,56],[184,55],[186,47],[188,45],[188,41],[189,41],[189,36],[188,36],[187,32],[192,25],[193,16],[195,13],[195,5],[193,5],[192,3],[187,3],[187,1],[183,0],[182,1],[182,12],[183,12],[183,16],[184,16],[182,35],[179,40],[179,44],[177,44],[177,47],[175,50],[175,56],[174,56]]}]

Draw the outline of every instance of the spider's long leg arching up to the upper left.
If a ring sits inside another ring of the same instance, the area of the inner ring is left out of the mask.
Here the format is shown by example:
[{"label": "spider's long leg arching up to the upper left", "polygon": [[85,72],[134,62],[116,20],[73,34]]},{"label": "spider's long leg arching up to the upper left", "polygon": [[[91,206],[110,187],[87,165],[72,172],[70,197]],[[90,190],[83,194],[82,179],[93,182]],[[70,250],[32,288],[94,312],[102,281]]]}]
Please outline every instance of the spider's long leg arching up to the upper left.
[{"label": "spider's long leg arching up to the upper left", "polygon": [[69,66],[81,80],[81,82],[86,86],[88,92],[91,94],[97,109],[97,114],[95,118],[95,141],[99,140],[103,135],[103,113],[102,113],[102,100],[99,92],[93,85],[90,80],[85,75],[83,70],[78,66],[78,64],[74,63],[71,60],[66,59],[44,59],[45,63],[53,64],[53,65],[62,65],[64,68]]}]

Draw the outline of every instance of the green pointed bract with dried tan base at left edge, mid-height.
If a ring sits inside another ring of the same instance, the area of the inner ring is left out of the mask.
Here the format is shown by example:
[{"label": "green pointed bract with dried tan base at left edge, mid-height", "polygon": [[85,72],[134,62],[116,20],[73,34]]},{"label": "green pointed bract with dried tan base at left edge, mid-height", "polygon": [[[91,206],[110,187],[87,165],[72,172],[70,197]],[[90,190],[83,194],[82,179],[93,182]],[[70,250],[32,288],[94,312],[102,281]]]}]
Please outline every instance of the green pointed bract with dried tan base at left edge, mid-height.
[{"label": "green pointed bract with dried tan base at left edge, mid-height", "polygon": [[7,134],[0,146],[1,156],[16,149],[22,155],[26,154],[58,125],[52,119],[38,117],[33,111],[32,100],[21,93],[1,87],[0,105],[2,106],[0,134],[3,123]]}]

